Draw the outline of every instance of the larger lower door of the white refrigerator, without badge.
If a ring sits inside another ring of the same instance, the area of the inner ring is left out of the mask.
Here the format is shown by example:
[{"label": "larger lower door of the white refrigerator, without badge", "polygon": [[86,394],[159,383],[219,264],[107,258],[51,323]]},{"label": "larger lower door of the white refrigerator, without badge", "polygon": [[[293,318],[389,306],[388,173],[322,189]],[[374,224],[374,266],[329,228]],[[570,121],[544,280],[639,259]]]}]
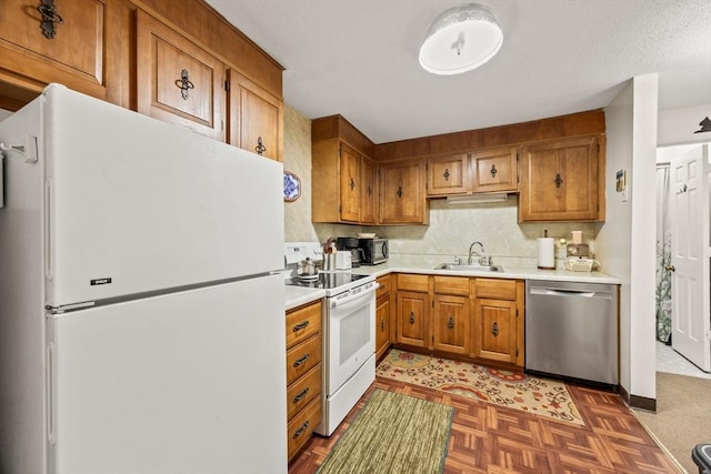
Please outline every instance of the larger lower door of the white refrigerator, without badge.
[{"label": "larger lower door of the white refrigerator, without badge", "polygon": [[284,324],[280,275],[53,316],[49,472],[286,473]]}]

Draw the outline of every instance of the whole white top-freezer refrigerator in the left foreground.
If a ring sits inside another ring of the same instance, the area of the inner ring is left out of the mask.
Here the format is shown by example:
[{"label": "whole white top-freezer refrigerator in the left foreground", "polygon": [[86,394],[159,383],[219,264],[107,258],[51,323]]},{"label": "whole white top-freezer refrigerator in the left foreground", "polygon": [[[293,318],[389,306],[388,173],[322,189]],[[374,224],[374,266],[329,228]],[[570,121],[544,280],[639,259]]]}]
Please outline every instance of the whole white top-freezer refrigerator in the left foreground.
[{"label": "whole white top-freezer refrigerator in the left foreground", "polygon": [[59,84],[0,142],[0,472],[286,473],[281,163]]}]

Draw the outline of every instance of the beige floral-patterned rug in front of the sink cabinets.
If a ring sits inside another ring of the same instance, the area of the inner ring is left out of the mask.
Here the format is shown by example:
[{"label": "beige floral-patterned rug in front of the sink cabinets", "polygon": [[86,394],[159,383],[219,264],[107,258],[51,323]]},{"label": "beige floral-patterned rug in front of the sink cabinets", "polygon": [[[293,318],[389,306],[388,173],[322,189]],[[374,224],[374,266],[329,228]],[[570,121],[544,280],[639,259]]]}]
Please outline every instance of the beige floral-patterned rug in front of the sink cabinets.
[{"label": "beige floral-patterned rug in front of the sink cabinets", "polygon": [[565,384],[393,349],[375,375],[584,425]]}]

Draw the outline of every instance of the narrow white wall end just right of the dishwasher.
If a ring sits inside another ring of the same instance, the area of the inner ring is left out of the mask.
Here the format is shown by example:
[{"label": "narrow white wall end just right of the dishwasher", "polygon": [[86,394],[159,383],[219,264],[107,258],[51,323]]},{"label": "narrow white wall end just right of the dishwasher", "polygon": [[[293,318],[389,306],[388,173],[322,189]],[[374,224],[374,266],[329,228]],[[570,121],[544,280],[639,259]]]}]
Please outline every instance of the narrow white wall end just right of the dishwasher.
[{"label": "narrow white wall end just right of the dishwasher", "polygon": [[[658,75],[633,78],[605,108],[607,222],[595,242],[609,273],[622,280],[620,384],[655,399],[654,235]],[[627,170],[628,201],[615,191]]]}]

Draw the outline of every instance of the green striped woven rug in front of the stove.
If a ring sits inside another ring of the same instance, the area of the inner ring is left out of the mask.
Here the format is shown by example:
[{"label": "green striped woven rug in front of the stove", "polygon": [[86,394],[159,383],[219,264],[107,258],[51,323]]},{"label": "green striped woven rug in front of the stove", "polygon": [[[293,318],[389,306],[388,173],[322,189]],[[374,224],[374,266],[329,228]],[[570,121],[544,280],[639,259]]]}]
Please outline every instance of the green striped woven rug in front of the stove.
[{"label": "green striped woven rug in front of the stove", "polygon": [[375,390],[319,474],[441,473],[454,409]]}]

